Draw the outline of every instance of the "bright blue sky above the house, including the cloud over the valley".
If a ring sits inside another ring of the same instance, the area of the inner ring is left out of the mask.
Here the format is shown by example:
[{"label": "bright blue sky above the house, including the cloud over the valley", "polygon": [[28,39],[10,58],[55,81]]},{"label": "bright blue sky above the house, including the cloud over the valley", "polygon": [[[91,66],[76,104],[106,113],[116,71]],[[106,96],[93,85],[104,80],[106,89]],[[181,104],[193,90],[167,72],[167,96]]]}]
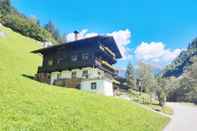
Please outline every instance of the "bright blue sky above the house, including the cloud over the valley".
[{"label": "bright blue sky above the house, including the cloud over the valley", "polygon": [[41,24],[53,21],[61,33],[115,34],[132,54],[126,53],[119,67],[138,59],[163,67],[197,36],[195,0],[12,0],[12,5]]}]

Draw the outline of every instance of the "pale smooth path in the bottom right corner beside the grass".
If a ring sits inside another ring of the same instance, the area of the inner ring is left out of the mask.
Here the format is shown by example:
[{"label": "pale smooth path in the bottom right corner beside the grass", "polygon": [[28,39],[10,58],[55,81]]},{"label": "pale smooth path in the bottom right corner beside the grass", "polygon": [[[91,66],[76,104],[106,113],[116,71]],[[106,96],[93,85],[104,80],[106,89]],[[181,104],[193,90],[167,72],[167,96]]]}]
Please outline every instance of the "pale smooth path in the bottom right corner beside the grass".
[{"label": "pale smooth path in the bottom right corner beside the grass", "polygon": [[174,115],[164,131],[197,131],[197,106],[168,103]]}]

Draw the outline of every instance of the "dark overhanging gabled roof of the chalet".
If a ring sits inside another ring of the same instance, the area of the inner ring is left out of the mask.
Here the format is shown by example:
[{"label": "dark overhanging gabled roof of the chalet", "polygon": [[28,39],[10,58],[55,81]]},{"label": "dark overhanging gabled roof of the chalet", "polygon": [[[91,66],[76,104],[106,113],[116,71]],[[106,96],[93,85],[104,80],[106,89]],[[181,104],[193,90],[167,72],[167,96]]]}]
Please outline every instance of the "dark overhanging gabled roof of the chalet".
[{"label": "dark overhanging gabled roof of the chalet", "polygon": [[47,48],[38,49],[38,50],[32,51],[32,53],[44,54],[44,53],[47,53],[48,51],[56,50],[61,47],[65,47],[65,48],[82,47],[82,46],[87,46],[89,44],[95,44],[95,45],[102,44],[110,48],[110,50],[112,50],[116,54],[116,58],[122,57],[120,50],[118,49],[118,46],[112,36],[94,36],[90,38],[85,38],[85,39],[80,39],[76,41],[71,41],[71,42],[66,42],[63,44],[50,46]]}]

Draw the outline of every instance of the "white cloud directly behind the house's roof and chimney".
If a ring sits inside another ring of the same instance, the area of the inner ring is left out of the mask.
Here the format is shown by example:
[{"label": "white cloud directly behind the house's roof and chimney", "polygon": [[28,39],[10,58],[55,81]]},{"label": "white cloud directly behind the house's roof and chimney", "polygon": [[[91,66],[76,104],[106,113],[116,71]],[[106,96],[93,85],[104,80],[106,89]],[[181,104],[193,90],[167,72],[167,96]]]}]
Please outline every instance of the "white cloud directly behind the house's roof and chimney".
[{"label": "white cloud directly behind the house's roof and chimney", "polygon": [[[98,35],[98,33],[96,33],[96,32],[88,32],[88,29],[83,29],[79,32],[78,39],[93,37],[93,36],[97,36],[97,35]],[[112,33],[104,33],[103,35],[114,37],[124,60],[131,58],[131,55],[129,54],[130,51],[128,48],[128,45],[129,45],[130,39],[131,39],[131,32],[128,29],[114,31]],[[74,38],[73,33],[68,33],[66,35],[67,41],[74,41],[74,39],[75,38]]]}]

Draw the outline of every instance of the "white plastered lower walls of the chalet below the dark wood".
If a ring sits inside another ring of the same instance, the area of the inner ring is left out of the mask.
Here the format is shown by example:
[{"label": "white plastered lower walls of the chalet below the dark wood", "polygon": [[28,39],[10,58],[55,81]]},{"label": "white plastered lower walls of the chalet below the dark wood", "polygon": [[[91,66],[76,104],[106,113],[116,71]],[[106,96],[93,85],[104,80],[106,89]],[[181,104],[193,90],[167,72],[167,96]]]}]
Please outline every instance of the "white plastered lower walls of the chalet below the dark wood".
[{"label": "white plastered lower walls of the chalet below the dark wood", "polygon": [[[72,79],[72,72],[77,73],[77,78],[82,78],[82,73],[84,70],[88,71],[89,80],[85,79],[81,82],[81,89],[85,91],[91,91],[96,92],[99,94],[107,95],[107,96],[113,96],[113,87],[112,82],[109,80],[103,80],[104,71],[98,69],[98,68],[91,68],[86,67],[82,69],[74,69],[74,70],[66,70],[62,72],[52,72],[51,73],[51,81],[50,84],[53,84],[55,80],[57,80],[58,74],[60,74],[61,79]],[[100,76],[98,74],[100,72]],[[91,89],[91,83],[96,82],[97,83],[97,89],[92,90]]]}]

